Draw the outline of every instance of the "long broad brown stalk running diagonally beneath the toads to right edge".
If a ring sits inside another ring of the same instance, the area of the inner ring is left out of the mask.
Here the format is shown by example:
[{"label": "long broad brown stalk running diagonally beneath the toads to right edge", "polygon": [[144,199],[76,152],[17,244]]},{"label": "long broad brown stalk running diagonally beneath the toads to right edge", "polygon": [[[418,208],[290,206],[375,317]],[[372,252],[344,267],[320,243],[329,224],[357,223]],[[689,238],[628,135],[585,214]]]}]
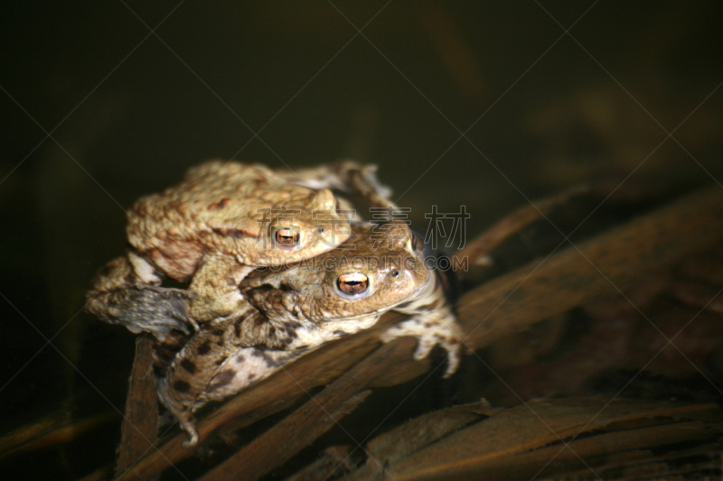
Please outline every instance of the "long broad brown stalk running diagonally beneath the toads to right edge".
[{"label": "long broad brown stalk running diagonally beneath the toads to right edge", "polygon": [[[714,186],[468,292],[458,303],[459,319],[468,334],[465,343],[474,349],[488,346],[497,338],[615,291],[615,286],[624,289],[684,256],[722,242],[723,190]],[[264,415],[284,409],[304,393],[302,387],[308,390],[333,381],[369,356],[379,345],[380,332],[386,328],[380,324],[330,343],[287,366],[286,373],[279,372],[240,393],[199,423],[202,439],[228,421],[261,407]],[[428,359],[412,359],[412,342],[400,340],[397,344],[401,345],[399,349],[385,357],[386,369],[380,370],[370,385],[400,384],[427,371]],[[371,357],[380,356],[378,352]],[[372,364],[377,362],[368,360]],[[253,415],[249,415],[251,418]],[[156,476],[169,462],[190,456],[192,450],[181,447],[183,436],[180,434],[149,453],[122,479]]]}]

